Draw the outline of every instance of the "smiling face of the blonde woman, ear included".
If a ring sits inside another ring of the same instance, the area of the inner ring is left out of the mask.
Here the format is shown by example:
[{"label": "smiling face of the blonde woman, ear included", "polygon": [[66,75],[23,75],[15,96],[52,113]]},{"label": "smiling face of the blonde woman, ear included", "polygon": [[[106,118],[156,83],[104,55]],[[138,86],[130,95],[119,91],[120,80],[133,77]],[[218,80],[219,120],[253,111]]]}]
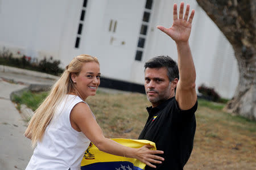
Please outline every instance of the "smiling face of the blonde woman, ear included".
[{"label": "smiling face of the blonde woman, ear included", "polygon": [[88,96],[96,95],[97,88],[100,85],[100,75],[100,65],[96,62],[84,63],[79,75],[71,75],[83,100]]}]

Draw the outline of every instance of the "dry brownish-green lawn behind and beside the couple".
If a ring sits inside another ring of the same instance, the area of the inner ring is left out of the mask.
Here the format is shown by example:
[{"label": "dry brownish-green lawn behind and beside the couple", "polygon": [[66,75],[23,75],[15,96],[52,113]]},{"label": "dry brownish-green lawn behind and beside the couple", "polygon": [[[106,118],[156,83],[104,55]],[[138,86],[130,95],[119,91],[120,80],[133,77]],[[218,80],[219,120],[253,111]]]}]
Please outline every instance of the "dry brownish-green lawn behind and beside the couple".
[{"label": "dry brownish-green lawn behind and beside the couple", "polygon": [[[38,105],[46,93],[28,92],[25,97],[15,100],[30,105],[28,100],[33,99],[33,95],[36,95]],[[86,102],[109,138],[136,139],[147,119],[145,107],[150,105],[143,94],[107,94],[102,91]],[[32,107],[36,108],[35,103]],[[223,107],[224,104],[199,100],[195,143],[185,170],[255,169],[256,122],[225,113]]]}]

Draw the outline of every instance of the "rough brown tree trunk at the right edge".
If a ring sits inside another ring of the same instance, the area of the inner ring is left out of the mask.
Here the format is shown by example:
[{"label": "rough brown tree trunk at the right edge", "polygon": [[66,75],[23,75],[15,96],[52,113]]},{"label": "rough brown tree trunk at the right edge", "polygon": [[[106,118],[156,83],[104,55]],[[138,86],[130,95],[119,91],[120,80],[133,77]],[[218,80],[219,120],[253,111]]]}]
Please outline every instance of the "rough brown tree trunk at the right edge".
[{"label": "rough brown tree trunk at the right edge", "polygon": [[196,1],[224,33],[237,59],[238,86],[225,110],[256,120],[256,1]]}]

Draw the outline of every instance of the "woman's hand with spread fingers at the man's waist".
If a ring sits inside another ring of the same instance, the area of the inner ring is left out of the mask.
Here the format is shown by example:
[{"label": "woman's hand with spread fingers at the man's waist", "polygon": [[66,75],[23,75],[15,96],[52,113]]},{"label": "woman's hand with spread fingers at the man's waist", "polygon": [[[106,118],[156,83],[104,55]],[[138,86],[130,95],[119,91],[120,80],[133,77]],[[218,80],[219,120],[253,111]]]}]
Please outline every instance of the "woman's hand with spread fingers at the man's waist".
[{"label": "woman's hand with spread fingers at the man's waist", "polygon": [[163,151],[158,151],[158,150],[150,150],[154,146],[151,145],[145,145],[141,148],[138,148],[137,151],[135,152],[135,158],[140,160],[141,162],[147,164],[148,166],[152,168],[156,168],[155,164],[161,164],[162,161],[164,161],[164,158],[157,156],[155,154],[163,154]]}]

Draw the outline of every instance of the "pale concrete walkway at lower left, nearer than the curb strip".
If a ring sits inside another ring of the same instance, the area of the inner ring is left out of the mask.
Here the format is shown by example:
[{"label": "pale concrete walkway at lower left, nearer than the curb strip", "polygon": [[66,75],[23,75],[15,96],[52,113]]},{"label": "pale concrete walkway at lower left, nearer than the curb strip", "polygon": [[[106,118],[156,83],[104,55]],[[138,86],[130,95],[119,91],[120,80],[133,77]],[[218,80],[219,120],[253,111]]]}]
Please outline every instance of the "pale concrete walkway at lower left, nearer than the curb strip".
[{"label": "pale concrete walkway at lower left, nearer than the curb strip", "polygon": [[26,122],[10,100],[11,92],[24,87],[0,78],[0,169],[25,169],[32,155],[30,140],[23,135]]}]

